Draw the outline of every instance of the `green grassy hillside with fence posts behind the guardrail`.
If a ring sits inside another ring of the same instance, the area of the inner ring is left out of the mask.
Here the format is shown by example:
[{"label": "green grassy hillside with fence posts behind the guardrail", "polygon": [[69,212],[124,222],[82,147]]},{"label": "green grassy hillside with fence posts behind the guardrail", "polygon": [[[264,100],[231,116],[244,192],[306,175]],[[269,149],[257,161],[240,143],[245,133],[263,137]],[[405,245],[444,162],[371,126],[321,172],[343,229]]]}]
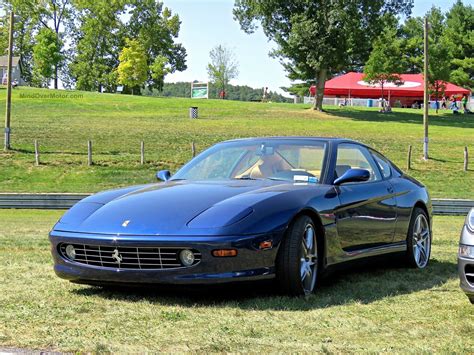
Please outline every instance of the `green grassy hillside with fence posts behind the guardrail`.
[{"label": "green grassy hillside with fence posts behind the guardrail", "polygon": [[[463,171],[463,149],[474,152],[474,117],[440,111],[430,119],[430,155],[422,156],[421,110],[328,107],[325,114],[306,105],[150,98],[80,93],[82,98],[25,98],[53,90],[18,88],[13,92],[13,151],[0,152],[0,191],[96,192],[154,181],[159,169],[175,171],[191,158],[191,142],[201,151],[232,138],[276,135],[340,136],[360,140],[406,166],[434,197],[474,198],[474,162]],[[71,93],[69,93],[71,94]],[[0,102],[5,90],[0,89]],[[199,106],[200,118],[188,109]],[[0,105],[0,116],[4,105]],[[34,166],[33,141],[39,140],[42,164]],[[93,141],[93,167],[86,142]],[[146,160],[139,164],[140,141]],[[3,145],[3,134],[0,136]],[[471,159],[472,160],[472,159]]]}]

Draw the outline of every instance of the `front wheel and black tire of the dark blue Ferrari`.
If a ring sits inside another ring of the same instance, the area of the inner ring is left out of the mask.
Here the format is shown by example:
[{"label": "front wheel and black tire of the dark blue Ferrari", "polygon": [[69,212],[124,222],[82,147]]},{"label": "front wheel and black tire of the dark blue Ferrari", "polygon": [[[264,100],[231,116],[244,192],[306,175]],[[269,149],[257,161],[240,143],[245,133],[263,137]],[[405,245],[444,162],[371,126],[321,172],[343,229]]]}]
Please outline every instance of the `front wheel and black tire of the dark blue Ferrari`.
[{"label": "front wheel and black tire of the dark blue Ferrari", "polygon": [[[313,231],[314,238],[309,237],[310,229]],[[316,288],[319,270],[316,232],[314,222],[308,216],[298,217],[288,228],[280,245],[276,263],[277,282],[282,293],[290,296],[305,296],[311,294]],[[308,252],[308,243],[305,242],[309,239],[313,240],[310,246],[311,252]],[[311,275],[310,270],[313,270]]]}]

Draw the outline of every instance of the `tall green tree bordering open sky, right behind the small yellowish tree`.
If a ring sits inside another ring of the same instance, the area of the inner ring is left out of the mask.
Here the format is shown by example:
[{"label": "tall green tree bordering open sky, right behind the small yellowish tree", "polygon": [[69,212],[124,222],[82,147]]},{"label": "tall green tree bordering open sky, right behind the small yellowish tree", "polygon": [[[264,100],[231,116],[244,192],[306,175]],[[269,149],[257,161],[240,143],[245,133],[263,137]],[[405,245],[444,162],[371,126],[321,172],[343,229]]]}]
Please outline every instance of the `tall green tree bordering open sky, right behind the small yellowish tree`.
[{"label": "tall green tree bordering open sky, right behind the small yellowish tree", "polygon": [[156,0],[130,1],[130,20],[127,36],[137,39],[147,55],[147,84],[161,90],[164,77],[175,71],[183,71],[186,66],[186,49],[175,43],[179,35],[181,21],[163,3]]}]

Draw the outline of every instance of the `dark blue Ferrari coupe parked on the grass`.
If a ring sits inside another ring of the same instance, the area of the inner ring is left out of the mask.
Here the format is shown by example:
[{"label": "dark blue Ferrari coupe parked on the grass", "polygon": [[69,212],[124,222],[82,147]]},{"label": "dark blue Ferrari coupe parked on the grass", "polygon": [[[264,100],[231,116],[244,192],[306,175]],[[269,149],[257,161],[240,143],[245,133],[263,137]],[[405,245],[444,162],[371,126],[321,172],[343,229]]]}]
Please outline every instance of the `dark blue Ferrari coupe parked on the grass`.
[{"label": "dark blue Ferrari coupe parked on the grass", "polygon": [[426,188],[358,142],[232,140],[158,177],[72,207],[50,233],[57,275],[93,285],[275,278],[305,295],[344,262],[398,253],[423,269],[430,258]]}]

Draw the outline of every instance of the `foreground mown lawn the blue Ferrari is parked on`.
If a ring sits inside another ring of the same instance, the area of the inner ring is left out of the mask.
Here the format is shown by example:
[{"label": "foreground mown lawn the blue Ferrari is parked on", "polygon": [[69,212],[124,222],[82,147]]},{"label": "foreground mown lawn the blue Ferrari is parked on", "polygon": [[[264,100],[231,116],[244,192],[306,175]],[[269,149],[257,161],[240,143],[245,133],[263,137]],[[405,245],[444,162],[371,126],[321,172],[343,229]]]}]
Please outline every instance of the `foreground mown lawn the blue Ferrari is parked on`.
[{"label": "foreground mown lawn the blue Ferrari is parked on", "polygon": [[0,349],[67,352],[474,352],[458,287],[461,217],[435,217],[431,264],[376,263],[291,299],[268,284],[102,290],[58,279],[47,233],[59,211],[0,210]]}]

